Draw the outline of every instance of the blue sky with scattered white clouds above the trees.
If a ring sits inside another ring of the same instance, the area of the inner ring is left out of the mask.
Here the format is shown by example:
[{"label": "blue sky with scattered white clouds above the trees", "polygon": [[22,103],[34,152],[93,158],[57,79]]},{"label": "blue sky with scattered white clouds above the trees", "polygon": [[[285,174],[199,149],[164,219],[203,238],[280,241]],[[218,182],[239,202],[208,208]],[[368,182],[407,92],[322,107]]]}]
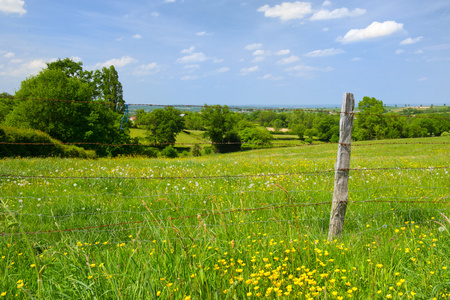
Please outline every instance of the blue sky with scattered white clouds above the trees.
[{"label": "blue sky with scattered white clouds above the trees", "polygon": [[130,104],[450,104],[450,1],[0,0],[0,92],[66,57]]}]

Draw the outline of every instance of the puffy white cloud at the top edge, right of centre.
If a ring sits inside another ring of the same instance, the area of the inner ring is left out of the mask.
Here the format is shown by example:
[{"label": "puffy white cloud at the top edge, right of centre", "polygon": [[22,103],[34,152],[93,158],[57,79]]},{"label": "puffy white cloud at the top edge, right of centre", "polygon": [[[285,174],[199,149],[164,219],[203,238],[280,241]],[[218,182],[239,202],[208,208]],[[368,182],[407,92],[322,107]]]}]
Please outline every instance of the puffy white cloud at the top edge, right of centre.
[{"label": "puffy white cloud at the top edge, right of centre", "polygon": [[282,21],[302,19],[305,15],[312,13],[309,2],[283,2],[280,5],[270,7],[264,5],[258,8],[259,12],[264,12],[264,16],[269,18],[280,18]]}]

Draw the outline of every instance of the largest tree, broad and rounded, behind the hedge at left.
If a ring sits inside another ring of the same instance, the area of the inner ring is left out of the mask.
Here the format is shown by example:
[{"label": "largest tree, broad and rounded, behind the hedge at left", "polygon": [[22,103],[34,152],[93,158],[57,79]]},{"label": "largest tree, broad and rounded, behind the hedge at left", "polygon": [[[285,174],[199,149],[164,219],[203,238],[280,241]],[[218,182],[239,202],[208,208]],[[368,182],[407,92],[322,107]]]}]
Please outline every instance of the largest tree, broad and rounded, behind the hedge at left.
[{"label": "largest tree, broad and rounded, behind the hedge at left", "polygon": [[[15,97],[23,100],[17,101],[5,124],[38,129],[62,142],[129,143],[129,129],[119,130],[122,116],[96,100],[98,92],[91,72],[83,71],[81,65],[70,59],[59,60],[22,81]],[[99,156],[132,150],[98,145],[83,147],[96,150]]]}]

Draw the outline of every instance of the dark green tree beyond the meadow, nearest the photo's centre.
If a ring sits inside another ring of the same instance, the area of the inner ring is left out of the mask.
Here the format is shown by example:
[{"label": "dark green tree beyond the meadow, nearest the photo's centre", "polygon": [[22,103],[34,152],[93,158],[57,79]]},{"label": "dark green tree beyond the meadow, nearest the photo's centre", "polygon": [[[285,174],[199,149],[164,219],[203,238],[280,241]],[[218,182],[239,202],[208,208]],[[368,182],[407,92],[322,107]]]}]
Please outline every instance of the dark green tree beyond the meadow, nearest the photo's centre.
[{"label": "dark green tree beyond the meadow, nearest the photo's centre", "polygon": [[236,130],[238,117],[233,114],[228,106],[204,106],[202,118],[206,127],[205,136],[215,143],[215,152],[231,152],[241,148],[240,138]]}]

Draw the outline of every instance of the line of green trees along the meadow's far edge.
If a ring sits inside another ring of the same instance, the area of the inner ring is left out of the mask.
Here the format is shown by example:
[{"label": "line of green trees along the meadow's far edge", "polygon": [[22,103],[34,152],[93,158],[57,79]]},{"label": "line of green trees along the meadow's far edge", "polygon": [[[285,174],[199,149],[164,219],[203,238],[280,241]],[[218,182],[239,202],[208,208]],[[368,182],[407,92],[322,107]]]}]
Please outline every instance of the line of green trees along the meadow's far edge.
[{"label": "line of green trees along the meadow's far edge", "polygon": [[[39,140],[30,138],[29,130],[33,129],[47,134],[46,139],[85,143],[82,147],[94,150],[97,156],[155,156],[155,148],[140,145],[138,138],[131,137],[130,122],[121,124],[127,117],[125,109],[122,84],[114,66],[88,71],[81,62],[59,59],[23,80],[14,97],[0,94],[0,139]],[[446,107],[432,114],[435,118],[404,118],[399,116],[405,112],[388,113],[381,100],[364,97],[357,110],[353,139],[358,141],[439,136],[449,131]],[[421,114],[421,117],[426,116]],[[146,129],[145,142],[155,144],[156,148],[159,145],[160,149],[174,145],[183,130],[201,130],[204,138],[212,142],[213,150],[224,153],[272,146],[273,135],[266,127],[273,127],[275,131],[288,128],[289,134],[310,143],[313,139],[337,142],[339,117],[339,113],[301,110],[239,112],[226,105],[205,105],[199,112],[166,106],[151,112],[136,111],[134,126]],[[134,146],[110,146],[113,144]],[[7,146],[2,147],[0,156],[5,156]]]}]

